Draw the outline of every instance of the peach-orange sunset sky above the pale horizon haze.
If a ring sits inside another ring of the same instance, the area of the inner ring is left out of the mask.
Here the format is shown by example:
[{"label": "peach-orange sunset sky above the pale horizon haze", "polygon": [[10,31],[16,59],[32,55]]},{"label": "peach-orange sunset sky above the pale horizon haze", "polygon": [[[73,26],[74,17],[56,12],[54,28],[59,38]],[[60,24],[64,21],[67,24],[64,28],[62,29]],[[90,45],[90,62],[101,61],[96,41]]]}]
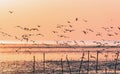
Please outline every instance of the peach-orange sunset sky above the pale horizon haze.
[{"label": "peach-orange sunset sky above the pale horizon haze", "polygon": [[119,40],[119,13],[120,0],[0,0],[0,41]]}]

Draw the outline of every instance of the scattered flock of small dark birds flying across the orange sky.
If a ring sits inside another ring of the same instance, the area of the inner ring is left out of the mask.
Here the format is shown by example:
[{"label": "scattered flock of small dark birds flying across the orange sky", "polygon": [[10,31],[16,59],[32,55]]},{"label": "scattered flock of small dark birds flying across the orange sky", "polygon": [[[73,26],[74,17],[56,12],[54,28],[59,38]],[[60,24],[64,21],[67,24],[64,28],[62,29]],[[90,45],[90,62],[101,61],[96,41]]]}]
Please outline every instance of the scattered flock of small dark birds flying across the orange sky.
[{"label": "scattered flock of small dark birds flying across the orange sky", "polygon": [[[10,14],[13,14],[14,11],[9,11]],[[88,20],[86,19],[80,19],[80,18],[75,18],[74,22],[84,22],[84,23],[88,23]],[[66,21],[67,25],[61,25],[61,24],[57,24],[56,28],[52,31],[49,31],[53,36],[56,36],[57,38],[60,39],[66,39],[69,40],[70,38],[72,39],[72,36],[69,36],[69,33],[74,34],[76,29],[75,29],[75,25],[73,25],[74,23],[72,23],[71,21]],[[78,24],[79,25],[79,24]],[[32,40],[32,37],[35,36],[40,36],[40,37],[47,37],[47,35],[40,33],[40,28],[41,25],[36,25],[36,27],[23,27],[23,26],[15,26],[14,28],[16,29],[20,29],[22,31],[27,32],[27,34],[23,33],[20,36],[15,36],[15,35],[11,35],[8,34],[4,31],[1,31],[2,28],[0,28],[0,35],[2,36],[7,36],[7,37],[12,37],[16,40],[20,40],[20,41],[27,41],[27,42],[32,42],[32,43],[36,43],[35,40]],[[80,30],[80,29],[79,29]],[[87,36],[88,34],[92,34],[96,37],[101,38],[102,41],[107,41],[104,40],[104,37],[109,36],[109,37],[114,37],[114,36],[119,36],[119,32],[120,32],[120,26],[117,27],[113,27],[113,26],[109,26],[109,27],[101,27],[102,32],[97,32],[96,30],[92,29],[92,28],[85,28],[84,30],[80,31],[83,35]],[[117,32],[116,32],[117,30]],[[78,30],[77,30],[78,31]],[[91,36],[92,36],[91,35]],[[106,35],[106,36],[105,36]],[[79,36],[79,34],[77,35]],[[71,40],[70,39],[70,40]],[[59,41],[59,40],[58,40]],[[58,44],[59,42],[56,41],[56,44]],[[79,43],[83,43],[83,44],[87,44],[84,40],[80,40],[80,41],[72,41],[75,45],[79,45]],[[69,45],[70,41],[64,42],[64,44],[68,44]],[[101,42],[101,41],[93,41],[92,43],[99,45],[99,46],[104,46],[104,45],[108,45],[108,42]],[[120,45],[120,41],[114,41],[114,44],[116,44],[117,46]]]}]

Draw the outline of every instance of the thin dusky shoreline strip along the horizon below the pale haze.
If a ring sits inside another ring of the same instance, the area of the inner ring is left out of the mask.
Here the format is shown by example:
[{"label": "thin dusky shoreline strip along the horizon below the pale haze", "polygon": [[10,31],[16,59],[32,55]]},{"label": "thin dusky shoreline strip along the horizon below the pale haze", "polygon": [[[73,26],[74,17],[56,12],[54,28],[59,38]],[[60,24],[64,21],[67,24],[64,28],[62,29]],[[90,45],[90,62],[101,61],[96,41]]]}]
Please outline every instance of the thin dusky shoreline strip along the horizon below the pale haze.
[{"label": "thin dusky shoreline strip along the horizon below the pale haze", "polygon": [[0,44],[0,48],[120,48],[120,46],[109,45],[57,45],[57,44]]}]

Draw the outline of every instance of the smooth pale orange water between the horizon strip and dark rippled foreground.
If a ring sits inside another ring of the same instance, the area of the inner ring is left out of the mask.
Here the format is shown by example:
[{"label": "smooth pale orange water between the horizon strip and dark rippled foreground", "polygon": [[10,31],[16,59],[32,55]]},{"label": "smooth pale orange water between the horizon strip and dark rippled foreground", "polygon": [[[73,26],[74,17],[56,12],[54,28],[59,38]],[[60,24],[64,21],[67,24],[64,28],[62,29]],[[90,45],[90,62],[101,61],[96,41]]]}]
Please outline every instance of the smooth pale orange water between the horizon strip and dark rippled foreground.
[{"label": "smooth pale orange water between the horizon strip and dark rippled foreground", "polygon": [[[84,51],[84,60],[88,58],[88,51],[90,51],[90,60],[95,60],[97,52],[99,53],[99,60],[105,60],[108,55],[108,60],[116,58],[116,51],[120,48],[0,48],[0,61],[20,61],[43,60],[43,53],[45,53],[46,60],[66,60],[66,56],[70,60],[80,60]],[[95,57],[95,58],[92,58]]]}]

